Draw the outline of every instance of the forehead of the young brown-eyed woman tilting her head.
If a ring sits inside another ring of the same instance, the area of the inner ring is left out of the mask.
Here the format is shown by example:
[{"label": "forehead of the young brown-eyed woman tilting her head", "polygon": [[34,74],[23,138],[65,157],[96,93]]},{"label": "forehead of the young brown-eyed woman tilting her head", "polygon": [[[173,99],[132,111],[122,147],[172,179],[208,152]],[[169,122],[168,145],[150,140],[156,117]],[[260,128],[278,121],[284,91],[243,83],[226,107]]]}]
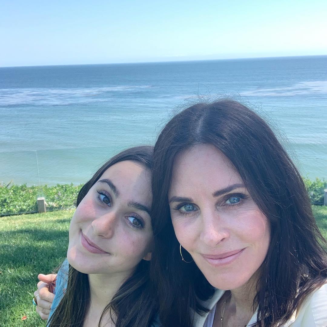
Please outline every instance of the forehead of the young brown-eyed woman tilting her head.
[{"label": "forehead of the young brown-eyed woman tilting her head", "polygon": [[145,166],[125,160],[110,166],[99,178],[110,179],[119,197],[146,202],[151,198],[151,172]]}]

